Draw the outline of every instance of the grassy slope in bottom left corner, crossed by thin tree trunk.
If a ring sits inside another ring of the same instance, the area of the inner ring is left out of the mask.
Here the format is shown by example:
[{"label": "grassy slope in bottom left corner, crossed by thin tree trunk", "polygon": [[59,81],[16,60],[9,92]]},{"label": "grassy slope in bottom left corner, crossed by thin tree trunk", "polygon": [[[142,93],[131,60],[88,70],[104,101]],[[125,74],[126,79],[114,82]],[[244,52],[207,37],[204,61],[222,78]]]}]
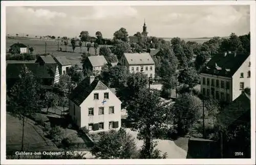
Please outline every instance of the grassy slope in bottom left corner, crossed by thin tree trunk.
[{"label": "grassy slope in bottom left corner, crossed by thin tree trunk", "polygon": [[[42,130],[28,119],[24,127],[24,149],[25,150],[55,150],[54,146],[49,146],[49,140],[42,136]],[[6,149],[20,150],[22,143],[22,121],[6,113]]]}]

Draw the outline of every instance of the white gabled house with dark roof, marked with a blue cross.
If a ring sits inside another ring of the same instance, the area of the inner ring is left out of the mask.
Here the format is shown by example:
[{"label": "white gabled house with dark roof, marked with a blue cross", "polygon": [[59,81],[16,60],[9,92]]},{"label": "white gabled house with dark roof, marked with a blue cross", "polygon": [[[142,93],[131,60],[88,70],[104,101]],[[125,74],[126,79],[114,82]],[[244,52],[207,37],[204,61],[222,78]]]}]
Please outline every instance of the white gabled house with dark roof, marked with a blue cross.
[{"label": "white gabled house with dark roof, marked with a blue cross", "polygon": [[70,95],[69,112],[78,127],[107,131],[121,127],[121,101],[94,77],[84,79]]}]

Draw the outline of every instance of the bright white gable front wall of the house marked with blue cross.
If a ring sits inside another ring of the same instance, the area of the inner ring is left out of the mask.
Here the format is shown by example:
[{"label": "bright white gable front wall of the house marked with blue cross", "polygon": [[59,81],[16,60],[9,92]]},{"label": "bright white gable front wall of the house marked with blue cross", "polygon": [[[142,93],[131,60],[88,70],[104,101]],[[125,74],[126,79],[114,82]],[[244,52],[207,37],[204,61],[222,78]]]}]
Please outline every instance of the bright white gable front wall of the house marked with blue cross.
[{"label": "bright white gable front wall of the house marked with blue cross", "polygon": [[[102,105],[104,92],[109,92],[109,99]],[[99,100],[94,100],[94,93],[99,93]],[[114,114],[109,114],[109,106],[114,106]],[[118,128],[121,126],[121,101],[111,92],[110,89],[94,90],[86,100],[80,105],[81,107],[81,127],[90,123],[104,122],[104,131],[109,130],[109,122],[117,122]],[[104,114],[98,113],[98,108],[104,107]],[[89,115],[88,108],[94,108],[94,115]],[[101,131],[103,131],[101,130]]]}]

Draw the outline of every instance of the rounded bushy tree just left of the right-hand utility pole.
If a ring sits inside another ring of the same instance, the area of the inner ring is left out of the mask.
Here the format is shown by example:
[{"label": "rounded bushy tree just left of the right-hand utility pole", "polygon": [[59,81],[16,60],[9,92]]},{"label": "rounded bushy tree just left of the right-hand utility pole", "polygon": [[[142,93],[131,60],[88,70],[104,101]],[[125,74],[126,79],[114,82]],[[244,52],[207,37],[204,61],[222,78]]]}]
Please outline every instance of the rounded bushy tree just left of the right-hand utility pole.
[{"label": "rounded bushy tree just left of the right-hand utility pole", "polygon": [[172,113],[178,134],[185,135],[200,118],[201,100],[190,93],[183,93],[176,99]]}]

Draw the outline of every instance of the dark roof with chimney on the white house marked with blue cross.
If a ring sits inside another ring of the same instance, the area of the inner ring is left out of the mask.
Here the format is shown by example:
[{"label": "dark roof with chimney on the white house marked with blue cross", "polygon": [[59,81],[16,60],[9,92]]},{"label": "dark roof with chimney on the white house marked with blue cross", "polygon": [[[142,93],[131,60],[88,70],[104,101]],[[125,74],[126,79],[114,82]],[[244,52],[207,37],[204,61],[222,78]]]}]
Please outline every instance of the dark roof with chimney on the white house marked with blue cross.
[{"label": "dark roof with chimney on the white house marked with blue cross", "polygon": [[108,87],[99,80],[94,80],[91,85],[88,79],[84,79],[73,90],[69,99],[76,105],[81,105],[84,100],[90,95],[93,90],[106,90]]}]

